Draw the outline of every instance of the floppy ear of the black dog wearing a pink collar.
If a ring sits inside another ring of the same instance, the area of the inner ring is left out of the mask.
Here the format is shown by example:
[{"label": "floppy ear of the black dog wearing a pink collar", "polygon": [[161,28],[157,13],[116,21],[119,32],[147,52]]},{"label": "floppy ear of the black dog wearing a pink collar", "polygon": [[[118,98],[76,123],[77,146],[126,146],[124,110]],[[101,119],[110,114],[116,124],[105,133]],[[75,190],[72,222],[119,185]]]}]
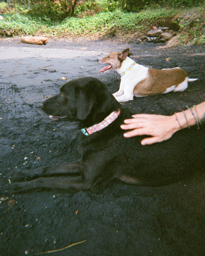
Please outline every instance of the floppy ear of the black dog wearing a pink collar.
[{"label": "floppy ear of the black dog wearing a pink collar", "polygon": [[85,120],[91,113],[92,106],[95,102],[94,93],[88,92],[85,87],[77,87],[75,89],[75,95],[77,98],[77,118]]}]

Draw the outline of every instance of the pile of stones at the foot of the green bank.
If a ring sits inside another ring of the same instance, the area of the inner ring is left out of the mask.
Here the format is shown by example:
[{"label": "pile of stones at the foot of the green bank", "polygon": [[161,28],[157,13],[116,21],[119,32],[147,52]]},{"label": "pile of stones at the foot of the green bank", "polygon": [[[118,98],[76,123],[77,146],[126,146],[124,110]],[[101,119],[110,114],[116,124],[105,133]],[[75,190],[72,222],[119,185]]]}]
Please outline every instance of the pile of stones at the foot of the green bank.
[{"label": "pile of stones at the foot of the green bank", "polygon": [[172,37],[176,36],[177,32],[170,30],[168,27],[159,27],[150,30],[147,35],[143,35],[137,39],[138,43],[149,42],[149,43],[165,43]]}]

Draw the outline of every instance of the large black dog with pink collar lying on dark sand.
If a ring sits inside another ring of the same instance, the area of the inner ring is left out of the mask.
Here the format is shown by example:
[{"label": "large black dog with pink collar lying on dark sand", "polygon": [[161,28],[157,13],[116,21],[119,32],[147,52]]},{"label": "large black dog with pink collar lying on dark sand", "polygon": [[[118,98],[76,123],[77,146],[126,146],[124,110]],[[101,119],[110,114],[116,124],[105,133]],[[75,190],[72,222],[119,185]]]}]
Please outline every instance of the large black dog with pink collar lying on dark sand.
[{"label": "large black dog with pink collar lying on dark sand", "polygon": [[[42,110],[52,119],[78,121],[82,158],[13,175],[3,190],[35,188],[99,191],[112,180],[137,186],[162,186],[205,166],[205,129],[184,129],[170,140],[141,146],[142,136],[124,138],[120,124],[132,118],[98,79],[84,77],[65,84]],[[108,118],[107,118],[108,117]],[[94,127],[93,127],[94,125]],[[87,127],[87,128],[85,128]],[[89,127],[89,128],[88,128]]]}]

